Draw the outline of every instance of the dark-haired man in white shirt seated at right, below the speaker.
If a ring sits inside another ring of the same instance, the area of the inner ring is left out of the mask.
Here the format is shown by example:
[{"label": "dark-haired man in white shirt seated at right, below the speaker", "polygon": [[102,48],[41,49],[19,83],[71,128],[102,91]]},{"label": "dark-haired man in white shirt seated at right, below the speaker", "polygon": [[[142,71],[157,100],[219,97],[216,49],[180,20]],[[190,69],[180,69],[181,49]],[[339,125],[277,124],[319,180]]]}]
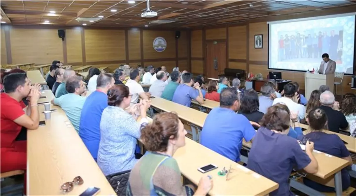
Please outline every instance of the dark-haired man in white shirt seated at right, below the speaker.
[{"label": "dark-haired man in white shirt seated at right, below the speaker", "polygon": [[284,97],[276,98],[273,101],[272,105],[277,103],[284,103],[289,111],[298,113],[299,120],[304,119],[305,117],[305,107],[302,104],[299,104],[299,97],[297,93],[297,88],[292,83],[284,85]]}]

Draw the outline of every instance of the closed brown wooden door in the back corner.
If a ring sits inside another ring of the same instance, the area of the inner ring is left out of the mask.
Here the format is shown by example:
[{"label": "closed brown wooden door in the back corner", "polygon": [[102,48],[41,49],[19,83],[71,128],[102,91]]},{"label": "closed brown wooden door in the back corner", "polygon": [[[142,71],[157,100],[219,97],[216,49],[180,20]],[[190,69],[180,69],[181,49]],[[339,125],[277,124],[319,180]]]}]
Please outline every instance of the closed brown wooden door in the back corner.
[{"label": "closed brown wooden door in the back corner", "polygon": [[208,78],[219,78],[226,68],[226,43],[206,44],[206,74]]}]

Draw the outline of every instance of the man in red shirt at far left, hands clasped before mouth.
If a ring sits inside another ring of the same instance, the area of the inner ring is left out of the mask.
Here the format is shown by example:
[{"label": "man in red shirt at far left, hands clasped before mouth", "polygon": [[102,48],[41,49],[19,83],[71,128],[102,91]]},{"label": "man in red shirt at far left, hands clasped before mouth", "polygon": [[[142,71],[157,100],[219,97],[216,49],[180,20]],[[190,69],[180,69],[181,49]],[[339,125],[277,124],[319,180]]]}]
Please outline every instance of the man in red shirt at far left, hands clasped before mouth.
[{"label": "man in red shirt at far left, hands clasped before mouth", "polygon": [[[0,94],[1,173],[26,170],[27,142],[16,141],[16,138],[22,130],[38,128],[37,101],[41,96],[40,85],[31,86],[25,73],[11,73],[1,79],[5,91]],[[22,101],[23,98],[28,99],[27,108]],[[24,190],[26,190],[26,174]]]}]

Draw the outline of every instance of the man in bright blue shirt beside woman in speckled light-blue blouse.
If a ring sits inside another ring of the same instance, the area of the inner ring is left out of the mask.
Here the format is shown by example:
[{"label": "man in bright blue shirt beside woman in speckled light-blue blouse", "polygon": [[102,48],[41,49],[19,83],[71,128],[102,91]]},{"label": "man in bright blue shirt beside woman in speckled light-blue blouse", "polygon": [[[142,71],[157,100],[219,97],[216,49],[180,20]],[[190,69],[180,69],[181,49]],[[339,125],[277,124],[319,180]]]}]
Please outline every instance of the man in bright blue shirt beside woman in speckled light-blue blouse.
[{"label": "man in bright blue shirt beside woman in speckled light-blue blouse", "polygon": [[114,83],[112,74],[101,73],[96,82],[96,90],[87,97],[80,115],[79,136],[95,161],[100,143],[101,114],[108,107],[107,94]]}]

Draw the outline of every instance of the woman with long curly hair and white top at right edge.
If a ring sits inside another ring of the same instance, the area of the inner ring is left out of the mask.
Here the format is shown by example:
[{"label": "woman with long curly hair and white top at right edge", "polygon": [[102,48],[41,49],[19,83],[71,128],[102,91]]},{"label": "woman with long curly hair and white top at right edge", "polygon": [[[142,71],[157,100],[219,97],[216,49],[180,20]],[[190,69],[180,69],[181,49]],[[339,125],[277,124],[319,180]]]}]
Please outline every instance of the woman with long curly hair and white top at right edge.
[{"label": "woman with long curly hair and white top at right edge", "polygon": [[341,102],[340,110],[349,123],[351,136],[356,137],[356,95],[347,93]]}]

